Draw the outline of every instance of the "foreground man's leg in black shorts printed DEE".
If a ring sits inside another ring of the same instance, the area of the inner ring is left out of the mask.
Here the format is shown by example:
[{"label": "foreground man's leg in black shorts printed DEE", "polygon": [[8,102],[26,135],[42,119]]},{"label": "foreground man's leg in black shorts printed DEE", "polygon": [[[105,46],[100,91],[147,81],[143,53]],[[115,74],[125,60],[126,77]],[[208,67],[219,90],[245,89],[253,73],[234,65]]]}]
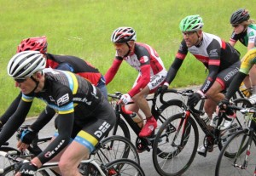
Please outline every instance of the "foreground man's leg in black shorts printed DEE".
[{"label": "foreground man's leg in black shorts printed DEE", "polygon": [[[78,106],[76,107],[78,108]],[[75,108],[75,111],[78,109]],[[81,108],[81,107],[79,107]],[[80,110],[81,111],[81,110]],[[76,116],[81,119],[80,116]],[[79,133],[73,139],[73,142],[67,146],[62,154],[59,167],[62,175],[79,175],[79,163],[95,150],[98,141],[103,139],[115,123],[115,114],[112,106],[104,100],[102,105],[89,116],[84,115],[84,119],[75,121],[80,127]],[[76,118],[75,118],[76,119]]]}]

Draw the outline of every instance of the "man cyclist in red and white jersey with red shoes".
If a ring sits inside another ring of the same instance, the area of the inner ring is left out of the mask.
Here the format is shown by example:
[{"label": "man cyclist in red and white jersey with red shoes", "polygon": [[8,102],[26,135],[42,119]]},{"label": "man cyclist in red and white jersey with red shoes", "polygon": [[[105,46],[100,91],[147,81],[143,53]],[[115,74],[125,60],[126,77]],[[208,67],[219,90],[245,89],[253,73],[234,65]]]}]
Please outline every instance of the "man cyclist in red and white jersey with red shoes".
[{"label": "man cyclist in red and white jersey with red shoes", "polygon": [[[113,31],[111,42],[116,50],[116,55],[105,78],[108,85],[123,60],[139,72],[133,87],[128,94],[122,95],[119,103],[128,104],[133,100],[134,104],[127,105],[126,108],[137,113],[139,109],[143,111],[147,121],[139,136],[147,137],[154,131],[157,123],[145,97],[154,93],[155,89],[160,86],[166,78],[167,71],[154,48],[145,43],[137,43],[136,40],[136,31],[131,27],[119,27]],[[139,116],[143,119],[141,115]]]}]

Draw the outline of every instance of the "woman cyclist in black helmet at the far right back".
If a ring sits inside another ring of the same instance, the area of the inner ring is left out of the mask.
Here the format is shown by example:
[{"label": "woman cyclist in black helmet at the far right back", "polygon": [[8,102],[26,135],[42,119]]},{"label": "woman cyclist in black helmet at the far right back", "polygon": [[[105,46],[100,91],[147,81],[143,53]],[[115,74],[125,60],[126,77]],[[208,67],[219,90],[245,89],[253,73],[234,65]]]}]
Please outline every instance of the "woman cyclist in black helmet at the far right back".
[{"label": "woman cyclist in black helmet at the far right back", "polygon": [[[247,9],[238,9],[230,17],[230,24],[234,28],[230,37],[230,44],[235,46],[239,40],[241,44],[247,47],[247,51],[253,48],[254,38],[256,37],[255,21],[250,19]],[[250,77],[246,77],[244,83],[252,94],[249,98],[252,104],[256,103],[256,66],[250,70]]]}]

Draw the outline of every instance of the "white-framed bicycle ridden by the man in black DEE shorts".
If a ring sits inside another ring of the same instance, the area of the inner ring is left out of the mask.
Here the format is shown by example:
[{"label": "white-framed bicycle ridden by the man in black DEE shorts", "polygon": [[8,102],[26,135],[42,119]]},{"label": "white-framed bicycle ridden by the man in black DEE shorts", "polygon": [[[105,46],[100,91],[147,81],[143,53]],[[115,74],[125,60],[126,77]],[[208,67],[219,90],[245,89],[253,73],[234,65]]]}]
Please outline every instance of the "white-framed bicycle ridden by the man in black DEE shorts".
[{"label": "white-framed bicycle ridden by the man in black DEE shorts", "polygon": [[[82,175],[102,175],[102,176],[107,176],[107,175],[137,175],[137,176],[144,176],[145,173],[143,172],[142,167],[140,167],[137,162],[133,162],[130,159],[118,159],[113,162],[109,162],[107,164],[104,164],[100,161],[96,161],[93,157],[95,155],[93,153],[90,156],[90,159],[88,160],[83,160],[80,162],[79,167],[79,173]],[[28,160],[22,160],[20,159],[19,155],[16,155],[15,153],[12,152],[5,152],[5,151],[0,151],[0,156],[6,157],[9,160],[13,160],[15,164],[4,168],[3,170],[0,171],[1,175],[3,176],[10,176],[10,175],[15,175],[15,167],[17,164],[20,162],[29,162]],[[35,173],[35,176],[38,175],[44,175],[44,176],[49,176],[51,175],[49,173],[49,169],[58,167],[58,162],[47,162],[45,163],[42,167],[40,167]]]}]

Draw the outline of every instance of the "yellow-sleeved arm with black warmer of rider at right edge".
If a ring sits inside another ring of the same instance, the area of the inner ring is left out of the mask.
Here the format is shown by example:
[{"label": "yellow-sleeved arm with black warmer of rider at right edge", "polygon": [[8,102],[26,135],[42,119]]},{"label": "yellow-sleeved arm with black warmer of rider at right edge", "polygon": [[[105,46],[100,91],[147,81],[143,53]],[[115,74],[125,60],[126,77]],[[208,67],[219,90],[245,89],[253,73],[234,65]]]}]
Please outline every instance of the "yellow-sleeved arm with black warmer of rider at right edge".
[{"label": "yellow-sleeved arm with black warmer of rider at right edge", "polygon": [[221,101],[220,106],[229,105],[230,98],[236,94],[241,82],[245,77],[247,77],[250,70],[252,70],[253,65],[256,65],[256,38],[254,39],[253,46],[254,48],[248,50],[247,54],[242,58],[240,70],[230,83],[230,88],[228,89],[227,94],[225,94],[225,99]]}]

